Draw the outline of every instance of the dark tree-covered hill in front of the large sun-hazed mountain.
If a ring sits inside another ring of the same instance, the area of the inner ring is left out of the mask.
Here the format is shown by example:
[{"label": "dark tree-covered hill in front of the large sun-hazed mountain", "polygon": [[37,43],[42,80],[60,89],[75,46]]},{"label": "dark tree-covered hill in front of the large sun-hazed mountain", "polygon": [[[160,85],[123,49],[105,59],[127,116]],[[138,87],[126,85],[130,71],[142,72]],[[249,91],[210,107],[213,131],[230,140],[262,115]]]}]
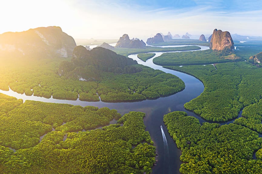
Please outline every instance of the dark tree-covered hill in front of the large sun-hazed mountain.
[{"label": "dark tree-covered hill in front of the large sun-hazed mountain", "polygon": [[77,46],[73,52],[71,62],[63,61],[58,73],[61,76],[78,78],[79,80],[92,81],[99,79],[100,72],[135,73],[142,69],[130,66],[138,64],[131,58],[121,56],[103,47],[87,50]]}]

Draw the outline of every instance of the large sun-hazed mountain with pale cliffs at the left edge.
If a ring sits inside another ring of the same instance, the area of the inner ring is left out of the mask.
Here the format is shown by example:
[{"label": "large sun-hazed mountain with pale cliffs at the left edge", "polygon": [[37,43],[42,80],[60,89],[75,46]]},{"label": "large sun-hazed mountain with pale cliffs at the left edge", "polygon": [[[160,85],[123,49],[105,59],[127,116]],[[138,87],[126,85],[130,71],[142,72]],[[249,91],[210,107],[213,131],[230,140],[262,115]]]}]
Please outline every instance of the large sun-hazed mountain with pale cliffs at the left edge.
[{"label": "large sun-hazed mountain with pale cliffs at the left edge", "polygon": [[76,47],[73,37],[60,27],[39,27],[0,35],[0,54],[30,58],[71,57]]}]

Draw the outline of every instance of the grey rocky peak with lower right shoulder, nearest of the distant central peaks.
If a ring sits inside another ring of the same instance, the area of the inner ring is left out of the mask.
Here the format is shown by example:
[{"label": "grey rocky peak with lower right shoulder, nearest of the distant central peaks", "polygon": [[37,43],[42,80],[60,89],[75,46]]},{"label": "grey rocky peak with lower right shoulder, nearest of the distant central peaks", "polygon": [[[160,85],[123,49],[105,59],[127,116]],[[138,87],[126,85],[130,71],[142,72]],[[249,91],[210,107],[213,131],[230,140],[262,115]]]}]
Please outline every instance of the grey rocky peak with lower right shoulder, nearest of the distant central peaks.
[{"label": "grey rocky peak with lower right shoulder, nearest of the distant central peaks", "polygon": [[136,40],[136,39],[129,39],[127,34],[124,34],[122,37],[119,38],[118,42],[116,43],[116,48],[145,48],[146,44],[143,40]]}]

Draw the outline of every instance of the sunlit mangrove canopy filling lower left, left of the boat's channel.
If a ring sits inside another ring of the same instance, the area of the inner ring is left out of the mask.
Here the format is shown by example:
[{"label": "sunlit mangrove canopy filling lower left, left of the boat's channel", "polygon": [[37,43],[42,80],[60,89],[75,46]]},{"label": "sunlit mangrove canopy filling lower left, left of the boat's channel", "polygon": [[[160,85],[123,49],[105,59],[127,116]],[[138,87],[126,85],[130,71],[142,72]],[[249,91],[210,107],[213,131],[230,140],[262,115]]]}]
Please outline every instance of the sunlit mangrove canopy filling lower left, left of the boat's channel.
[{"label": "sunlit mangrove canopy filling lower left, left of the boat's channel", "polygon": [[[142,112],[120,118],[114,109],[22,103],[3,94],[0,102],[0,173],[152,172],[155,147]],[[6,106],[10,111],[3,110]],[[91,130],[112,119],[119,119],[118,124]]]}]

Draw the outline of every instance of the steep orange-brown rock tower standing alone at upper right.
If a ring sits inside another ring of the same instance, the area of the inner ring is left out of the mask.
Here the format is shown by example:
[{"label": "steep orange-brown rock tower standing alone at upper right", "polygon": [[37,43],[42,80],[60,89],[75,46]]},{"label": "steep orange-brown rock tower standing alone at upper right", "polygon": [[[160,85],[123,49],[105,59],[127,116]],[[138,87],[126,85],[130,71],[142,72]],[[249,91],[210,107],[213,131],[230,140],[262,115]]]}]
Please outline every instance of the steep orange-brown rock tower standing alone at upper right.
[{"label": "steep orange-brown rock tower standing alone at upper right", "polygon": [[209,45],[210,49],[221,51],[225,48],[234,50],[234,42],[228,31],[221,31],[215,29]]}]

